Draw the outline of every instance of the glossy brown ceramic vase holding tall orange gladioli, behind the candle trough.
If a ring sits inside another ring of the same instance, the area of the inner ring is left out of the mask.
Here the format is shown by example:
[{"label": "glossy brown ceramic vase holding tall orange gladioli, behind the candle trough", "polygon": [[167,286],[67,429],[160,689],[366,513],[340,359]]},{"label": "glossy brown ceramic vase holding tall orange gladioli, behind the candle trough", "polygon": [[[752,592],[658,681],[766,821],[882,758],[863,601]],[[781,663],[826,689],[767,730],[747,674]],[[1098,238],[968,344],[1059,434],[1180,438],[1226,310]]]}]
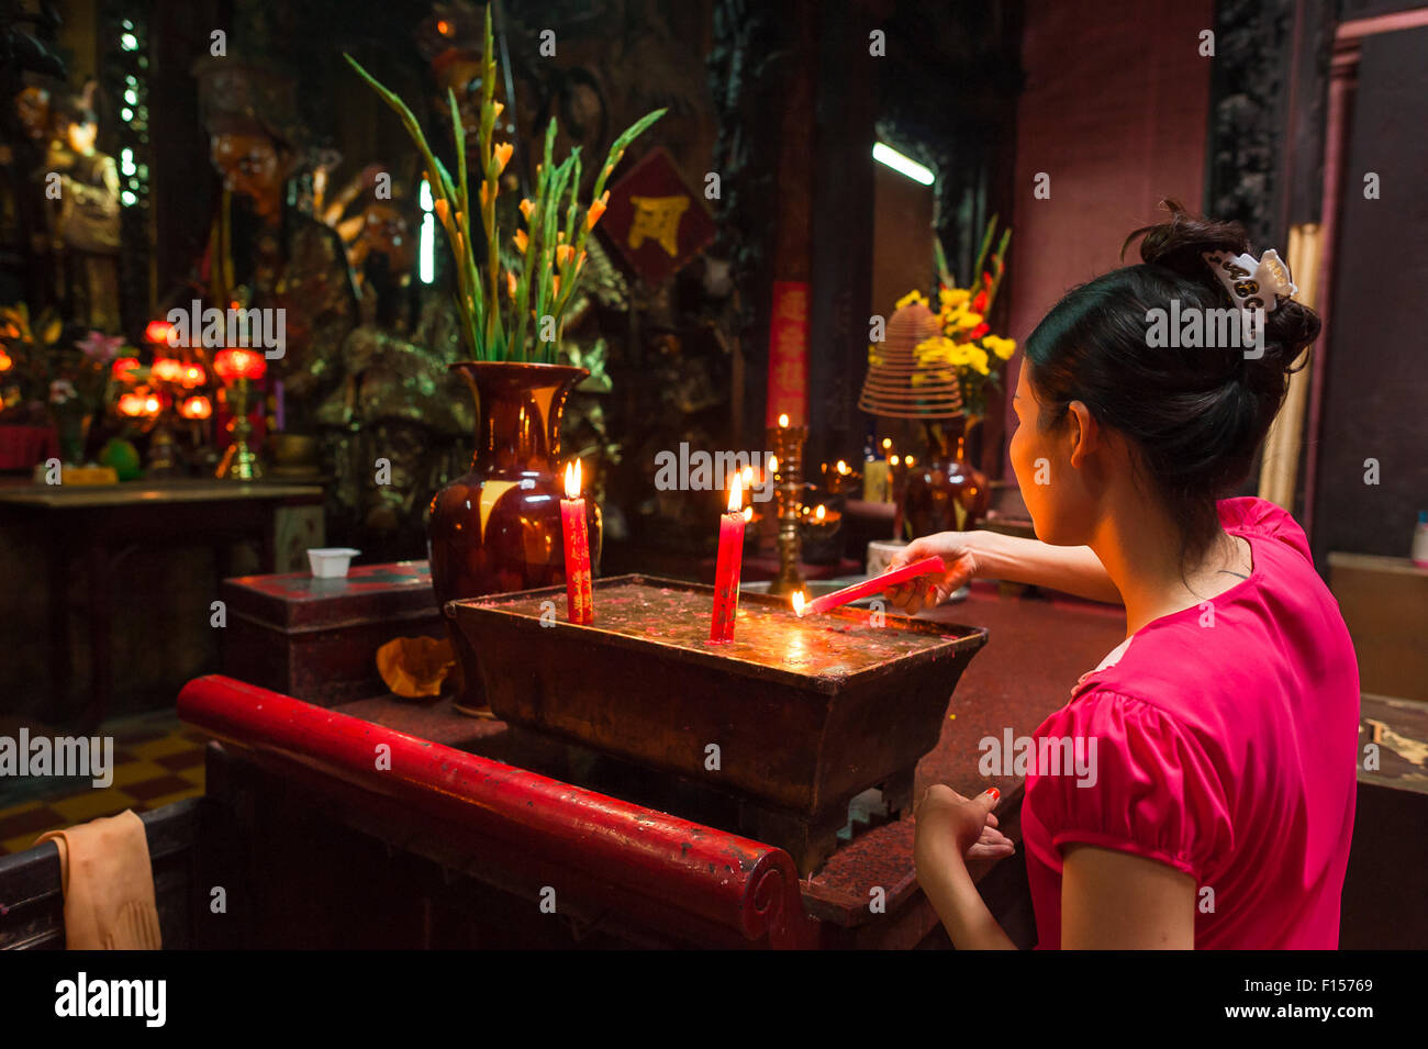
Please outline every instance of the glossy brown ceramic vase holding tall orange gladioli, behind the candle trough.
[{"label": "glossy brown ceramic vase holding tall orange gladioli, behind the candle trough", "polygon": [[[431,500],[427,555],[437,602],[565,581],[560,500],[560,418],[590,373],[561,364],[463,361],[451,365],[476,398],[471,471]],[[585,498],[591,568],[600,571],[600,510]],[[484,714],[480,654],[447,619],[461,664],[457,709]]]}]

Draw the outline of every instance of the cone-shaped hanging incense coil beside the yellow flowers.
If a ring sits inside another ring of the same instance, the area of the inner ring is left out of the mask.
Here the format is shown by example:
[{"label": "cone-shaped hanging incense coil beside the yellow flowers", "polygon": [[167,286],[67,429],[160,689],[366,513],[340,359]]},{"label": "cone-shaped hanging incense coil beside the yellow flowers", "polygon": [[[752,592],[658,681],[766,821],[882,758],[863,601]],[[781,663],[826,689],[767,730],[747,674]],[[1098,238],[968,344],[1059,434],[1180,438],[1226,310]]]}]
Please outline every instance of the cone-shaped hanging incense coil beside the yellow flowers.
[{"label": "cone-shaped hanging incense coil beside the yellow flowers", "polygon": [[921,303],[908,303],[892,314],[887,337],[868,350],[868,375],[858,408],[884,418],[958,418],[962,390],[957,370],[947,364],[921,364],[917,347],[942,334],[937,314]]}]

